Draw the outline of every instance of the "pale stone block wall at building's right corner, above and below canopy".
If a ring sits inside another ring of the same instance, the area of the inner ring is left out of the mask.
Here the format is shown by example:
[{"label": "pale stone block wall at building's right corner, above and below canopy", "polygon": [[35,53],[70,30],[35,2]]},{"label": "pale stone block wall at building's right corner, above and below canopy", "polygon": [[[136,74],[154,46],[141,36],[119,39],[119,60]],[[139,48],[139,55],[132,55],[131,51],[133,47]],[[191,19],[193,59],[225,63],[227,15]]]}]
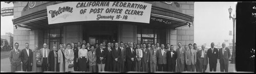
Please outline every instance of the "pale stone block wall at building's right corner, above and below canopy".
[{"label": "pale stone block wall at building's right corner, above and below canopy", "polygon": [[[194,17],[194,2],[178,2],[183,14]],[[177,29],[177,43],[181,42],[182,47],[194,44],[194,22],[190,27]],[[177,44],[176,44],[177,45]]]}]

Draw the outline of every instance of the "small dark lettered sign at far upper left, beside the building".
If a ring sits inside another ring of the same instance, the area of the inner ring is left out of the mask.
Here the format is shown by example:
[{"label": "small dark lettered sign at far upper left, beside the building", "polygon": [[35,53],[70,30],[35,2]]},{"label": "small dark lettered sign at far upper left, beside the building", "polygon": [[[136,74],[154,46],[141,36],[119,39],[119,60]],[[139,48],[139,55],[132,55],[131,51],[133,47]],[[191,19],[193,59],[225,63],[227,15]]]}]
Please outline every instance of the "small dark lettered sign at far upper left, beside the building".
[{"label": "small dark lettered sign at far upper left, beside the building", "polygon": [[13,15],[13,7],[7,7],[1,9],[2,16],[12,16]]}]

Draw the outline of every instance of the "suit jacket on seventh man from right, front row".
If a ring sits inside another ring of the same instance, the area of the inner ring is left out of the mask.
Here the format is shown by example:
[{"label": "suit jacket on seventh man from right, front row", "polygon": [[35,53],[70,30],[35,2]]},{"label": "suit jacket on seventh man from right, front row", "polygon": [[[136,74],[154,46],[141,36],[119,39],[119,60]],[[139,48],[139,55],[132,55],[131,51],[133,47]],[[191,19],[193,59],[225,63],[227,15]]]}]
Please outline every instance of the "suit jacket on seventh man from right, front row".
[{"label": "suit jacket on seventh man from right, front row", "polygon": [[163,55],[161,52],[162,49],[157,50],[157,59],[158,59],[158,64],[167,64],[167,59],[166,59],[166,49],[163,49]]}]

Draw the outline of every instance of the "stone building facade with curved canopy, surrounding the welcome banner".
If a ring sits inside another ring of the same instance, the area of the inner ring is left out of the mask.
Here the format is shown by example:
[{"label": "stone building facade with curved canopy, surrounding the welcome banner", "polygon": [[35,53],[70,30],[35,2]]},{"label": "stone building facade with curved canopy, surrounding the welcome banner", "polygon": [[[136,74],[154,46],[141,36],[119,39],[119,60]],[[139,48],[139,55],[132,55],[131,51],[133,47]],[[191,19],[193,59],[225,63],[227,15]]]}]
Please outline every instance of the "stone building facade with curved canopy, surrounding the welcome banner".
[{"label": "stone building facade with curved canopy, surrounding the welcome banner", "polygon": [[[81,21],[49,25],[47,6],[65,2],[13,2],[14,43],[19,49],[30,44],[48,48],[86,40],[92,45],[102,42],[171,44],[194,43],[194,2],[142,2],[152,5],[150,23],[124,21]],[[169,21],[169,22],[167,22]],[[13,44],[14,44],[13,43]],[[183,47],[182,46],[182,47]]]}]

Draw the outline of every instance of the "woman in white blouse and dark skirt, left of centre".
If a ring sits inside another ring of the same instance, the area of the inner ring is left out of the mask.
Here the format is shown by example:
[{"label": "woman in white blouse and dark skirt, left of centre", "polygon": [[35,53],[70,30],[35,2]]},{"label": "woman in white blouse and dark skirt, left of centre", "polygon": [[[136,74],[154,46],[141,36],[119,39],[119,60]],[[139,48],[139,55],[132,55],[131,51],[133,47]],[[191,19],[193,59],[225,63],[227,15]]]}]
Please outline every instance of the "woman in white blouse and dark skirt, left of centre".
[{"label": "woman in white blouse and dark skirt, left of centre", "polygon": [[87,62],[88,62],[88,50],[86,50],[86,44],[82,44],[82,49],[78,51],[79,57],[79,71],[87,70]]}]

